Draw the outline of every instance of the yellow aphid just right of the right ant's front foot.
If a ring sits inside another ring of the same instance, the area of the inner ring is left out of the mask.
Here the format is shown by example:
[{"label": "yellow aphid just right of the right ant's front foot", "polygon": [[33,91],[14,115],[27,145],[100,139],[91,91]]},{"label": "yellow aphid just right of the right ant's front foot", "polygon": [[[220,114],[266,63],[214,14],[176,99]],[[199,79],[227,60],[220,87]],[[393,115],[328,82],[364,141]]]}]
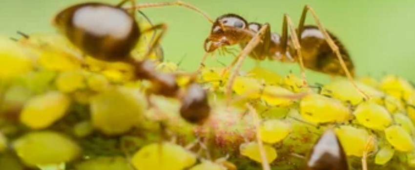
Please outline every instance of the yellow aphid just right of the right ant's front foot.
[{"label": "yellow aphid just right of the right ant's front foot", "polygon": [[249,99],[258,99],[261,97],[263,85],[254,78],[239,76],[236,77],[232,89],[240,96]]}]

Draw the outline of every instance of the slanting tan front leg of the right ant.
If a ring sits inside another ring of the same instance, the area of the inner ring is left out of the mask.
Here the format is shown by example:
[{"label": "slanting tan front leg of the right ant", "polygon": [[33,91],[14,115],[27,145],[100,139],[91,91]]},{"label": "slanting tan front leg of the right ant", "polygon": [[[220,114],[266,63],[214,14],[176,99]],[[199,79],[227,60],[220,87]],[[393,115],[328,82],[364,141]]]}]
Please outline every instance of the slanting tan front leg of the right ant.
[{"label": "slanting tan front leg of the right ant", "polygon": [[262,28],[258,31],[258,33],[252,37],[252,39],[249,41],[247,46],[245,46],[244,50],[242,50],[236,57],[236,59],[238,59],[236,63],[236,67],[231,73],[228,79],[228,84],[226,85],[226,97],[227,97],[228,103],[230,101],[230,95],[232,93],[232,85],[233,85],[233,82],[235,81],[236,76],[238,75],[239,69],[242,67],[242,64],[244,63],[245,59],[248,57],[248,54],[251,51],[253,51],[253,49],[259,44],[259,42],[261,41],[268,27],[270,27],[268,23],[264,24],[264,26],[262,26]]}]

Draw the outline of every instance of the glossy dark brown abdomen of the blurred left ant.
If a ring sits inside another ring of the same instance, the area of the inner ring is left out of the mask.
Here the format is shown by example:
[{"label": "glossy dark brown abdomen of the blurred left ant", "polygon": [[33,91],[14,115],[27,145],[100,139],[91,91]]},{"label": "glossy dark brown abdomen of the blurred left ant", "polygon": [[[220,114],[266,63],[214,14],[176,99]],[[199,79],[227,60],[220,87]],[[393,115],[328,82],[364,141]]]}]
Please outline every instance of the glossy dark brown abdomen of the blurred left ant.
[{"label": "glossy dark brown abdomen of the blurred left ant", "polygon": [[[108,62],[129,58],[140,37],[137,22],[126,10],[103,3],[71,6],[59,13],[54,22],[83,52]],[[119,26],[113,27],[114,23]]]}]

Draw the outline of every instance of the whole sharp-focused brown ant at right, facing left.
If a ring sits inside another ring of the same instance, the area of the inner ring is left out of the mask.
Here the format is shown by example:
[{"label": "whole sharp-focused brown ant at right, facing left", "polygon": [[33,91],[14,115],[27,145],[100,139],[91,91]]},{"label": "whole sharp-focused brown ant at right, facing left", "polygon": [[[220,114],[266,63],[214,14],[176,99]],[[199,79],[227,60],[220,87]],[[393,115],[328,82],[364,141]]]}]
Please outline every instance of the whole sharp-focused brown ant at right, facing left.
[{"label": "whole sharp-focused brown ant at right, facing left", "polygon": [[[304,25],[307,12],[311,13],[317,26]],[[290,17],[284,14],[282,35],[271,33],[269,23],[249,23],[236,14],[218,17],[205,40],[206,53],[200,68],[204,67],[207,53],[236,44],[239,44],[243,50],[225,69],[227,71],[236,65],[226,88],[228,99],[238,70],[248,55],[255,60],[265,60],[268,57],[282,62],[299,62],[304,85],[307,85],[305,68],[332,76],[346,76],[356,90],[365,99],[369,99],[369,96],[353,81],[354,65],[349,53],[333,34],[323,28],[316,13],[308,5],[303,9],[297,29],[294,28]]]}]

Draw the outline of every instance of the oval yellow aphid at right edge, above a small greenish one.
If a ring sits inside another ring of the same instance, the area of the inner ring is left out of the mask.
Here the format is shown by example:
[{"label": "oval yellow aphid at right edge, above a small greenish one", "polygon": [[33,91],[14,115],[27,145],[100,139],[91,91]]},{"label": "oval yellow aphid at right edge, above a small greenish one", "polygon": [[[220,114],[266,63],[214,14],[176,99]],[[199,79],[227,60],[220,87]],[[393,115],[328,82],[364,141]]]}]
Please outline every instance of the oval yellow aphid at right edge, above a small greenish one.
[{"label": "oval yellow aphid at right edge, above a small greenish one", "polygon": [[388,142],[398,151],[409,152],[414,150],[414,141],[411,135],[399,125],[392,125],[385,129]]}]

